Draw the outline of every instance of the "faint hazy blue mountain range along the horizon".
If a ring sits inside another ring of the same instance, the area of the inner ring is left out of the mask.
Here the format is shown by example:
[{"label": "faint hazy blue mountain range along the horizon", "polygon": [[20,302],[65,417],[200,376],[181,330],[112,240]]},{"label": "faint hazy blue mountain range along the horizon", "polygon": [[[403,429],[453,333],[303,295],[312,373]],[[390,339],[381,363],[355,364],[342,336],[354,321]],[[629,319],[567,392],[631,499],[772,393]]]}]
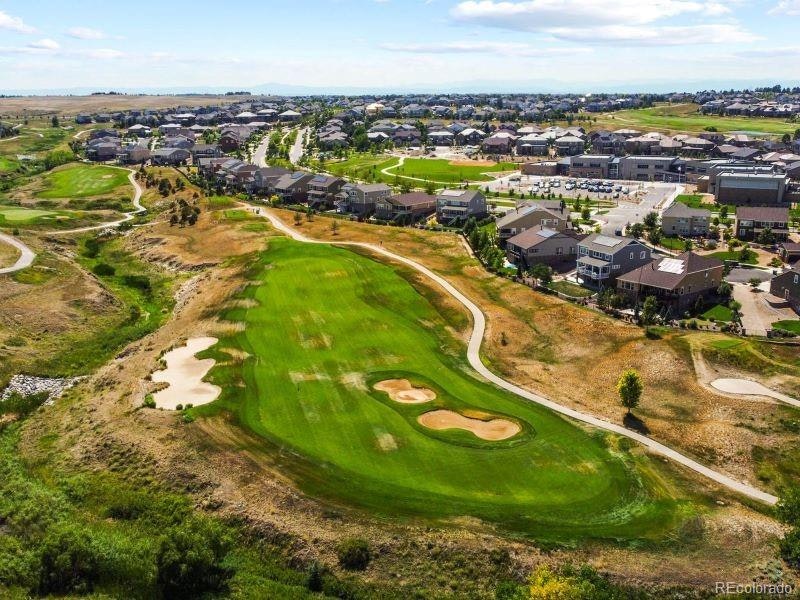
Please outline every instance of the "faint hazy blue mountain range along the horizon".
[{"label": "faint hazy blue mountain range along the horizon", "polygon": [[696,80],[696,81],[604,81],[604,82],[563,82],[557,80],[539,81],[463,81],[437,84],[416,84],[402,86],[317,86],[286,83],[263,83],[241,86],[169,86],[169,87],[72,87],[47,89],[0,90],[4,95],[14,96],[82,96],[94,92],[115,91],[123,94],[224,94],[236,90],[247,90],[253,94],[274,94],[278,96],[360,96],[381,94],[609,94],[609,93],[655,93],[697,92],[702,90],[752,89],[773,86],[794,87],[798,81],[776,82],[773,80]]}]

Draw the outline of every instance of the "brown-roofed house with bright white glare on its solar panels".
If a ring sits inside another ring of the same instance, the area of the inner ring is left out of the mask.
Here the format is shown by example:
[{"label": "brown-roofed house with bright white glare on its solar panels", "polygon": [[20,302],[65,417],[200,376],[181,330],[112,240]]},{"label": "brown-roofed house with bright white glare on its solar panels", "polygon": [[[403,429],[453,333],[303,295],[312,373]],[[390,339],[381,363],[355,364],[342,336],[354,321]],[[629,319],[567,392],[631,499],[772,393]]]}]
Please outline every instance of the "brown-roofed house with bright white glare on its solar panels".
[{"label": "brown-roofed house with bright white glare on its solar panels", "polygon": [[617,291],[632,303],[654,296],[671,314],[680,315],[698,300],[716,297],[723,269],[721,260],[694,252],[659,257],[617,277]]}]

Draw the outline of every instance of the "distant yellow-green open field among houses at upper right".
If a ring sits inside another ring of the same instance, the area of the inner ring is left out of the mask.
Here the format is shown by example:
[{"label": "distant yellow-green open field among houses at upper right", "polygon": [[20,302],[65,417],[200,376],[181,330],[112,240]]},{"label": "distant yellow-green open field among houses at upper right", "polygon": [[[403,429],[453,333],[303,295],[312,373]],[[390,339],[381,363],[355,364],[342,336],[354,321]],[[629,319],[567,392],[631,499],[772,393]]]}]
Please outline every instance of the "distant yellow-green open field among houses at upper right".
[{"label": "distant yellow-green open field among houses at upper right", "polygon": [[[720,133],[743,132],[753,135],[781,136],[794,133],[800,126],[782,119],[767,117],[719,117],[701,115],[697,104],[659,105],[652,108],[621,110],[597,115],[592,127],[639,129],[665,133],[701,133],[714,128]],[[594,117],[594,115],[592,115]]]}]

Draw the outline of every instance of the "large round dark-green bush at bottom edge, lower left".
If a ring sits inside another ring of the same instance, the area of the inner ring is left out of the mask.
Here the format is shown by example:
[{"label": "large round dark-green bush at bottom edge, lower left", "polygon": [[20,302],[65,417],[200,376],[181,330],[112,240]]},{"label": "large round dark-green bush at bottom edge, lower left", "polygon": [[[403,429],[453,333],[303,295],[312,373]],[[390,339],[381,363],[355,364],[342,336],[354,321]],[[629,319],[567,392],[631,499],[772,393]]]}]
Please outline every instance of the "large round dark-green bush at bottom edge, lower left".
[{"label": "large round dark-green bush at bottom edge, lower left", "polygon": [[224,564],[232,540],[222,525],[190,518],[167,531],[156,554],[164,598],[199,598],[227,590],[233,570]]}]

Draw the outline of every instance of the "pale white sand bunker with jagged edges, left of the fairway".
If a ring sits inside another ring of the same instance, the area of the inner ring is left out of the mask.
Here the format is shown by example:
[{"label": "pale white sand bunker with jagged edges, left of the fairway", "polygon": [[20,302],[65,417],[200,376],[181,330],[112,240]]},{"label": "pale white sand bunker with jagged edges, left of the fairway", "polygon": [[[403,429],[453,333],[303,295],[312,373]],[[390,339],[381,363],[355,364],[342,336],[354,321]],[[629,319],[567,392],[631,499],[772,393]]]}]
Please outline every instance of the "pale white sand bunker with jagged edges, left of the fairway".
[{"label": "pale white sand bunker with jagged edges, left of the fairway", "polygon": [[220,388],[206,383],[203,377],[214,366],[213,358],[199,360],[195,354],[217,343],[217,338],[192,338],[185,346],[164,355],[167,368],[153,373],[153,381],[168,383],[169,387],[153,394],[156,406],[174,410],[178,404],[208,404],[219,396]]}]

